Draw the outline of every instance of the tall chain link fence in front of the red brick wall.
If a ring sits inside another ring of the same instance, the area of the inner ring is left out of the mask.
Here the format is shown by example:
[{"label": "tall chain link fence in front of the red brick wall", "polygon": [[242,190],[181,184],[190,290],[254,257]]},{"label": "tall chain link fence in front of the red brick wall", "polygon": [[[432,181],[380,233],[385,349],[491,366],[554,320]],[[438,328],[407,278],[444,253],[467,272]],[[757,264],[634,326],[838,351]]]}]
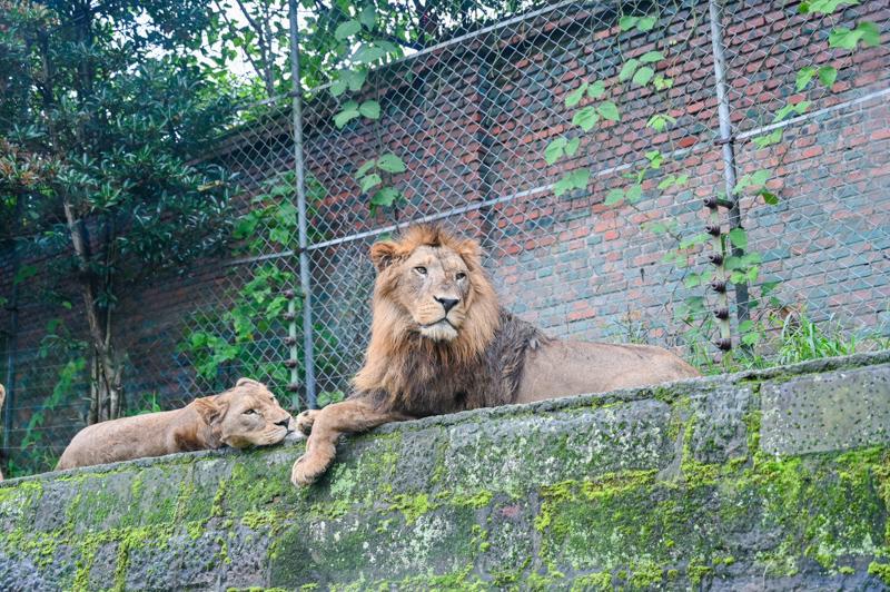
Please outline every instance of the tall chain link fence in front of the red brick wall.
[{"label": "tall chain link fence in front of the red brick wall", "polygon": [[[131,405],[240,375],[295,411],[344,396],[369,336],[369,246],[417,221],[477,238],[504,306],[556,336],[657,344],[705,368],[791,361],[789,327],[839,352],[887,346],[886,2],[505,12],[439,21],[436,43],[356,90],[305,60],[298,101],[244,109],[207,156],[240,184],[230,256],[121,303]],[[83,425],[87,373],[41,347],[30,286],[52,257],[33,257],[3,259],[4,454],[40,451],[46,468]],[[26,265],[38,273],[13,282]]]}]

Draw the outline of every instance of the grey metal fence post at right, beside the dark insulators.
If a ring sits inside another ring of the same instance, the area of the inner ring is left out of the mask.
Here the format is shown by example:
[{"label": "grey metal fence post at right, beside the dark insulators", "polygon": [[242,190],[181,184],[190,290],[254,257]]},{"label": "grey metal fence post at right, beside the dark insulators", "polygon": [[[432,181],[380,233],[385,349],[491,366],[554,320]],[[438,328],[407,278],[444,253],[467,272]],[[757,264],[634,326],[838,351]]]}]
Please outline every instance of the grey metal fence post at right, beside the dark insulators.
[{"label": "grey metal fence post at right, beside the dark insulators", "polygon": [[[732,136],[732,121],[730,119],[730,97],[726,85],[726,58],[723,55],[723,20],[722,11],[718,2],[720,0],[708,0],[708,8],[711,16],[711,50],[714,58],[714,85],[716,87],[716,112],[720,120],[720,139],[718,140],[723,150],[723,180],[726,189],[726,200],[729,201],[730,228],[742,227],[742,211],[739,206],[739,197],[733,190],[735,188],[735,147]],[[744,250],[731,245],[732,255],[741,257]],[[749,299],[748,283],[734,284],[735,287],[735,316],[739,323],[748,320]]]}]

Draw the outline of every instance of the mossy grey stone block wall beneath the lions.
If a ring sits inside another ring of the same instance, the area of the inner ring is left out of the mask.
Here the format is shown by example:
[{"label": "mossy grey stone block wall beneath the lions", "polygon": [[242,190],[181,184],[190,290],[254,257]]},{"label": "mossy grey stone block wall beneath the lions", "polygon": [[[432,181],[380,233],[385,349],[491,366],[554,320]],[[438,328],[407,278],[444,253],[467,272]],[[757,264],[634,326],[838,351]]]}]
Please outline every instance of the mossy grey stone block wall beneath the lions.
[{"label": "mossy grey stone block wall beneath the lions", "polygon": [[0,589],[890,588],[890,354],[0,486]]}]

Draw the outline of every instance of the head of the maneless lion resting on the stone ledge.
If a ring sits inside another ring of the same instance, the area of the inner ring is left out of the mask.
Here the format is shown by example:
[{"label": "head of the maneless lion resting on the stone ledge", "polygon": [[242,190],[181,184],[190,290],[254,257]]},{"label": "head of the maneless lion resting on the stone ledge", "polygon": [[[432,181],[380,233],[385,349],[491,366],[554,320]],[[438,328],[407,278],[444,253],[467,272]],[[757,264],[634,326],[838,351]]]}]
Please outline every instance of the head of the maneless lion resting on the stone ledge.
[{"label": "head of the maneless lion resting on the stone ledge", "polygon": [[235,388],[195,404],[220,441],[236,448],[277,444],[295,428],[275,395],[250,378],[239,378]]}]

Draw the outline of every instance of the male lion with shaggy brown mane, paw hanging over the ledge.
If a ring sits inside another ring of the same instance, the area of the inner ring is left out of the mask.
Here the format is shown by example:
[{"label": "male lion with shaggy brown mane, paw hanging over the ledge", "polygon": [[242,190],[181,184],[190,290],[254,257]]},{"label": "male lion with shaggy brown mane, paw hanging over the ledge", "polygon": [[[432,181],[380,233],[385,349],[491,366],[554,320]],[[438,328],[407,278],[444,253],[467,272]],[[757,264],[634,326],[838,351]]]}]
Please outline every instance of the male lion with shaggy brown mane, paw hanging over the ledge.
[{"label": "male lion with shaggy brown mane, paw hanging over the ledge", "polygon": [[290,480],[308,485],[334,460],[340,434],[398,422],[699,373],[660,347],[561,342],[503,309],[479,245],[436,226],[375,244],[370,344],[343,403],[297,416],[309,435]]}]

